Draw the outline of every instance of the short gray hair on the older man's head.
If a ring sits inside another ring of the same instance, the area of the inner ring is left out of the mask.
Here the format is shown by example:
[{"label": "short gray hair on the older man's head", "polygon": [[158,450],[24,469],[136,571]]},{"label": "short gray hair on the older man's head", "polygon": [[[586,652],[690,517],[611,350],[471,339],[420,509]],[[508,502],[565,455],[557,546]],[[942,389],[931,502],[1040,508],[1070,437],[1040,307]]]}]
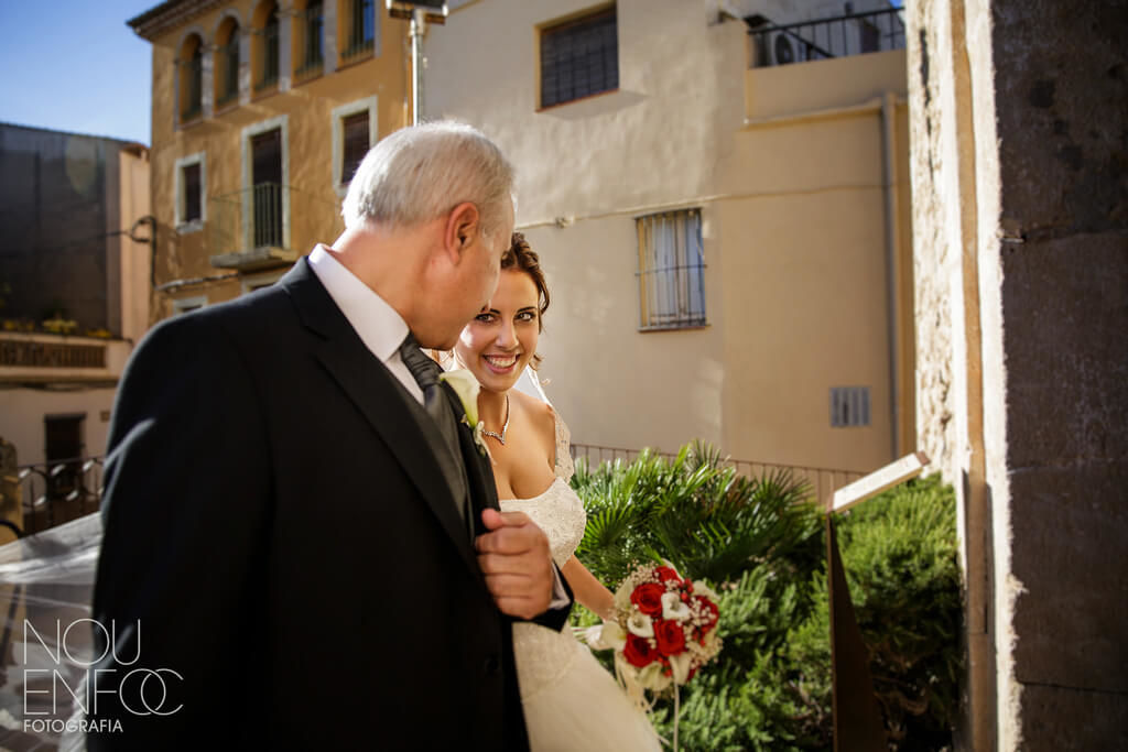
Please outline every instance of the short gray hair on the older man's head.
[{"label": "short gray hair on the older man's head", "polygon": [[345,195],[345,227],[412,227],[462,202],[482,214],[482,233],[501,230],[503,201],[513,201],[513,166],[477,129],[435,121],[391,133],[364,156]]}]

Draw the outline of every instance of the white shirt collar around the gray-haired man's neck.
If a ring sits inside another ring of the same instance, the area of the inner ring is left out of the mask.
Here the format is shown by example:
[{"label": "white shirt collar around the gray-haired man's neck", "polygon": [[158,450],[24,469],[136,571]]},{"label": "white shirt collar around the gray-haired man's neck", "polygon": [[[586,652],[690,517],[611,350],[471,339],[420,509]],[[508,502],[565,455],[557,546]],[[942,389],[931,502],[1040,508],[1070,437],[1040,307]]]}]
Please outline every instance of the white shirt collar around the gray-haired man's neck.
[{"label": "white shirt collar around the gray-haired man's neck", "polygon": [[409,329],[396,309],[361,282],[323,244],[317,244],[309,254],[309,266],[369,352],[381,363],[399,352]]}]

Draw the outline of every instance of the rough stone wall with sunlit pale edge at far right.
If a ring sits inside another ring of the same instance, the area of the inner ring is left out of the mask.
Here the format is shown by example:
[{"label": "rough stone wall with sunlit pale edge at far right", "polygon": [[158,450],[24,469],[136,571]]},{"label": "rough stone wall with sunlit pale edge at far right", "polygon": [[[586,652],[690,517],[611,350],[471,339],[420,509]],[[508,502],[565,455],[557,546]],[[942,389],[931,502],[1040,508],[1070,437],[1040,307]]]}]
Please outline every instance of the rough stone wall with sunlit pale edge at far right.
[{"label": "rough stone wall with sunlit pale edge at far right", "polygon": [[961,746],[1128,727],[1128,3],[909,23],[919,433],[957,483]]}]

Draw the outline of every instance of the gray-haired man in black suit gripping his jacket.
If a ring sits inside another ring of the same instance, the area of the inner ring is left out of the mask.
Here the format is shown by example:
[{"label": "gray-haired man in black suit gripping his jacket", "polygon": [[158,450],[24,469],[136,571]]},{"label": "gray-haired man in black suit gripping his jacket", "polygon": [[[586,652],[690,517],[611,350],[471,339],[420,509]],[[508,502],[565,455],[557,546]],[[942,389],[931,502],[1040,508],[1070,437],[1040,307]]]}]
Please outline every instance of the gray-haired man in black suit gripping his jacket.
[{"label": "gray-haired man in black suit gripping his jacket", "polygon": [[510,622],[561,628],[571,599],[420,352],[492,295],[512,187],[469,126],[398,131],[332,248],[141,344],[111,427],[90,749],[527,747]]}]

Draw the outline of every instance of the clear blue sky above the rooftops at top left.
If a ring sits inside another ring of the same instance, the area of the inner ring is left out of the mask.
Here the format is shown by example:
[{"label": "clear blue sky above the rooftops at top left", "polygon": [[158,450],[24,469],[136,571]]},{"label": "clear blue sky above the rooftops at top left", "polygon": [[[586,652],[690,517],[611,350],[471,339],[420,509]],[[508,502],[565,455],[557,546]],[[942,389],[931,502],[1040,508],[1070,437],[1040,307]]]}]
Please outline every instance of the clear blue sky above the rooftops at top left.
[{"label": "clear blue sky above the rooftops at top left", "polygon": [[152,50],[125,21],[160,0],[0,0],[0,121],[149,140]]}]

